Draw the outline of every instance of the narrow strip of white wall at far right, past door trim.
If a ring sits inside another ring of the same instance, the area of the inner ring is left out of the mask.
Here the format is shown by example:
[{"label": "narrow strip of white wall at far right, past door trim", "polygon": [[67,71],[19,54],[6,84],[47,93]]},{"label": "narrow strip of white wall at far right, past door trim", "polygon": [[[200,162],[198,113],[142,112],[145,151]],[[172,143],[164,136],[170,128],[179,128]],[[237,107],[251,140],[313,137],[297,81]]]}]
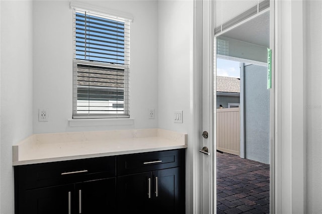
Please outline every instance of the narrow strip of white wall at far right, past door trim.
[{"label": "narrow strip of white wall at far right, past door trim", "polygon": [[305,18],[306,211],[322,213],[322,2],[307,1]]}]

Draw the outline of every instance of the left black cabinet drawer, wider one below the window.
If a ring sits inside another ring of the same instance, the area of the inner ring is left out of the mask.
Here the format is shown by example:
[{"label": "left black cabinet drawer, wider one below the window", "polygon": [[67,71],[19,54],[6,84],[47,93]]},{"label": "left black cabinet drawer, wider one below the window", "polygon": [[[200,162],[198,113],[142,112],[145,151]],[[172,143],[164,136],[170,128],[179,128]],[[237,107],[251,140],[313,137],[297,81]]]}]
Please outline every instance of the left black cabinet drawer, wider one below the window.
[{"label": "left black cabinet drawer, wider one below the window", "polygon": [[115,156],[15,167],[15,177],[24,189],[115,177]]}]

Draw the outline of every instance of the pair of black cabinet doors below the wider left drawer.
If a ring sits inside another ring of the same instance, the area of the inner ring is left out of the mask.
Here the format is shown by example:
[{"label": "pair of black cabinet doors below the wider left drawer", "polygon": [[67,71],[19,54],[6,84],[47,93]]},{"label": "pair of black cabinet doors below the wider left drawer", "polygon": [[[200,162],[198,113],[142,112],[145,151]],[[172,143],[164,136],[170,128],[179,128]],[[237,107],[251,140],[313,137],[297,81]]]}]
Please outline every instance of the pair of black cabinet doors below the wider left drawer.
[{"label": "pair of black cabinet doors below the wider left drawer", "polygon": [[19,213],[115,213],[115,178],[27,190]]}]

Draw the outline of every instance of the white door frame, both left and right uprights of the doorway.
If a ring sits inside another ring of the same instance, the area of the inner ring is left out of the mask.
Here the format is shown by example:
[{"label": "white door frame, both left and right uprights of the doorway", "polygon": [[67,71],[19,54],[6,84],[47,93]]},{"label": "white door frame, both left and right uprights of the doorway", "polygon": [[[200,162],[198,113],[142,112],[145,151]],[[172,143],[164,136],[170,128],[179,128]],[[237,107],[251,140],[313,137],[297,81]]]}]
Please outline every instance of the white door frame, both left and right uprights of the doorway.
[{"label": "white door frame, both left and right uprights of the doorway", "polygon": [[[201,1],[194,0],[193,53],[193,213],[200,213],[201,147]],[[271,213],[304,212],[305,115],[304,54],[305,1],[270,0],[272,49],[271,92]],[[296,48],[293,48],[296,47]],[[293,68],[293,69],[292,69]],[[273,166],[274,165],[274,166]]]}]

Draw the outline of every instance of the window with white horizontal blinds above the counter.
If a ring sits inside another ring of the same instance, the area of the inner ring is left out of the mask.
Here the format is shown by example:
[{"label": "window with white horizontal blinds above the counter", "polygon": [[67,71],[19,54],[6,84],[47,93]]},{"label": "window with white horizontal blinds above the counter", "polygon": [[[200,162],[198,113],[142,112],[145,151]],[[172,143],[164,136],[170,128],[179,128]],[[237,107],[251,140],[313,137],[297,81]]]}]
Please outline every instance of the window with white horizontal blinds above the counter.
[{"label": "window with white horizontal blinds above the counter", "polygon": [[73,9],[73,119],[129,118],[130,22]]}]

